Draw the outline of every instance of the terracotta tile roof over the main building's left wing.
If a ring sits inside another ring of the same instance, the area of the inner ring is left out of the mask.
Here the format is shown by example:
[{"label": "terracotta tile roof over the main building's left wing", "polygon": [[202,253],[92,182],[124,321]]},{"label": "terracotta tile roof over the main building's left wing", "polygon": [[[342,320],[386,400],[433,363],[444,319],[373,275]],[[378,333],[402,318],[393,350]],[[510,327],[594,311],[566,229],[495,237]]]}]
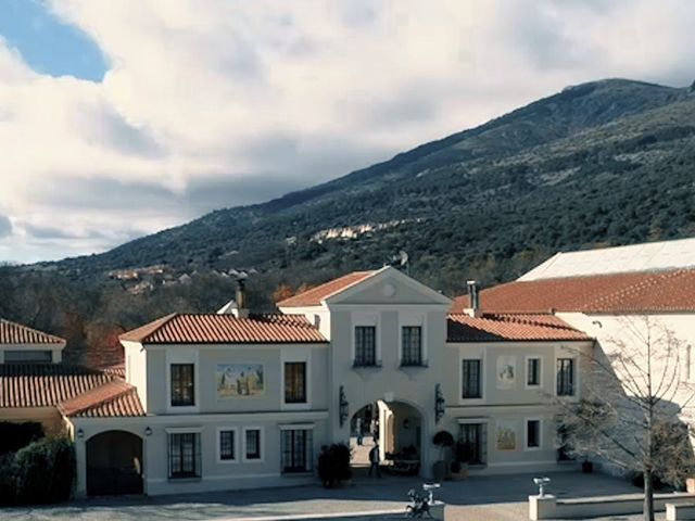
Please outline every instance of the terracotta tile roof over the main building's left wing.
[{"label": "terracotta tile roof over the main building's left wing", "polygon": [[301,315],[168,315],[121,335],[143,344],[300,344],[325,343]]}]

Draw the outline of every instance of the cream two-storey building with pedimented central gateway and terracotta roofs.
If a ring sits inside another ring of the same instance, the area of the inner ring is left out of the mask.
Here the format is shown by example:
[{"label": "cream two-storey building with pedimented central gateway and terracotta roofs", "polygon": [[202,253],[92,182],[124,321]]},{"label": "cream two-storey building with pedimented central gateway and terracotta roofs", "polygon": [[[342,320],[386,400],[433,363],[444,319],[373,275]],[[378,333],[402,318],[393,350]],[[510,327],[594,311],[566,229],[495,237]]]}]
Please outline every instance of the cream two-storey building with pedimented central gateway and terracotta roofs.
[{"label": "cream two-storey building with pedimented central gateway and terracotta roofs", "polygon": [[[568,465],[551,396],[578,399],[576,353],[593,340],[561,319],[452,314],[452,301],[390,267],[279,306],[163,317],[122,335],[125,379],[100,371],[47,404],[76,442],[77,494],[315,482],[321,446],[356,424],[378,431],[384,465],[424,476],[441,430],[462,441],[470,473]],[[10,389],[31,364],[4,369]]]}]

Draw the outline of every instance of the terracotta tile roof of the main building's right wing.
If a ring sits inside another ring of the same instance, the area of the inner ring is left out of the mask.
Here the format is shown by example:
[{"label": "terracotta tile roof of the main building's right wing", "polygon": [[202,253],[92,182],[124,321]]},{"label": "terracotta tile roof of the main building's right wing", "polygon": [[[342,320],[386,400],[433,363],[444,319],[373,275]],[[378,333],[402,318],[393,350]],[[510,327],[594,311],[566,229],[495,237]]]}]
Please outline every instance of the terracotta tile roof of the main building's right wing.
[{"label": "terracotta tile roof of the main building's right wing", "polygon": [[446,335],[447,342],[592,340],[553,315],[451,314]]}]

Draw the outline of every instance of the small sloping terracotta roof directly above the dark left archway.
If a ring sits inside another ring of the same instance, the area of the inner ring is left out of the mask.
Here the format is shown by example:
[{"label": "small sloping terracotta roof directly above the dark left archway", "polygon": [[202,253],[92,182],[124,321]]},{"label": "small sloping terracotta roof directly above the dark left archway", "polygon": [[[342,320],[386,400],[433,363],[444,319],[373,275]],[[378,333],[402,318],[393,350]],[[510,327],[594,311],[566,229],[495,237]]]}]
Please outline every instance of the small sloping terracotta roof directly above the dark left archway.
[{"label": "small sloping terracotta roof directly above the dark left archway", "polygon": [[62,402],[58,409],[67,417],[113,418],[144,416],[136,387],[113,380],[79,396]]}]

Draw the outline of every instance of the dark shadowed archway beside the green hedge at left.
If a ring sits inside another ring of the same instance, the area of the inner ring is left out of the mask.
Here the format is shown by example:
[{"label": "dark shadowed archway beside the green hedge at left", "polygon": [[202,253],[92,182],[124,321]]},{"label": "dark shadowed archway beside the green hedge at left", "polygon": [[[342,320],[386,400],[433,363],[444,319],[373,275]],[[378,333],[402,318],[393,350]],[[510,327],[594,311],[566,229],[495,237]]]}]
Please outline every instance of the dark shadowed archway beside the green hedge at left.
[{"label": "dark shadowed archway beside the green hedge at left", "polygon": [[87,441],[87,495],[142,494],[142,439],[106,431]]}]

